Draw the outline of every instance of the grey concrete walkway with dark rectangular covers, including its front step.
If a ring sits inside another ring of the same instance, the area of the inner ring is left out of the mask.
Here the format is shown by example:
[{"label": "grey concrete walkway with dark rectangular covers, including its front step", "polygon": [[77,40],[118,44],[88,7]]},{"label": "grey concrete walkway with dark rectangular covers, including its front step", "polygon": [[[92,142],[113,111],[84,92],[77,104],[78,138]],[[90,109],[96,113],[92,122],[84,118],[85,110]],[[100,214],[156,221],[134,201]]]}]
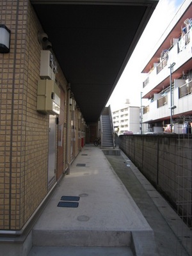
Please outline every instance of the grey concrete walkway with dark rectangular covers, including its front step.
[{"label": "grey concrete walkway with dark rectangular covers, including its front step", "polygon": [[[169,251],[164,250],[172,241],[178,242],[177,237],[173,234],[173,236],[169,235],[168,239],[165,239],[167,243],[163,243],[168,230],[166,228],[163,230],[161,227],[164,223],[166,227],[168,224],[162,220],[161,213],[157,214],[159,211],[154,211],[155,208],[152,208],[154,202],[151,199],[146,207],[143,197],[140,198],[140,193],[144,195],[142,189],[145,191],[146,188],[151,188],[151,185],[144,179],[147,187],[143,187],[136,178],[137,168],[131,161],[127,164],[128,161],[124,154],[104,156],[100,148],[86,145],[72,163],[70,175],[66,175],[61,180],[49,204],[36,222],[33,228],[34,246],[29,256],[189,255],[180,243],[177,244],[177,252],[182,254],[173,252],[173,248]],[[131,182],[132,179],[132,186],[138,182],[134,191],[136,196],[133,191],[130,195],[129,189],[125,188],[127,185],[124,186],[122,183],[127,177],[121,181],[118,177],[120,173],[115,169],[122,170],[122,173],[130,171],[129,181]],[[141,179],[140,173],[138,175]],[[157,193],[154,188],[149,190]],[[70,202],[61,200],[61,196],[77,196],[71,201],[77,207],[58,207],[59,202]],[[157,196],[154,197],[157,200]],[[148,221],[151,217],[148,218],[136,198],[140,199],[140,202],[143,201],[143,209],[146,211],[148,209],[152,212],[152,216],[157,216],[154,222],[162,230],[162,239],[157,238],[156,228],[155,231],[152,230],[154,227]],[[160,199],[162,200],[161,197]],[[167,254],[170,252],[175,254]]]}]

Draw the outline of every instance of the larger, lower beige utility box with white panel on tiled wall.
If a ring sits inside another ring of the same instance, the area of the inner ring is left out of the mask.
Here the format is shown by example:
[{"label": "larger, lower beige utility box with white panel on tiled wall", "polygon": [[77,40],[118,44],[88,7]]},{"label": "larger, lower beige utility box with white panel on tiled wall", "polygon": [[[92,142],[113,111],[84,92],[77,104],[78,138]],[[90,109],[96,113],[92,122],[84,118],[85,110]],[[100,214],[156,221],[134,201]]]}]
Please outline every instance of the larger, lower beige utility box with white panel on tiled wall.
[{"label": "larger, lower beige utility box with white panel on tiled wall", "polygon": [[36,110],[45,115],[60,114],[60,88],[54,81],[38,81]]}]

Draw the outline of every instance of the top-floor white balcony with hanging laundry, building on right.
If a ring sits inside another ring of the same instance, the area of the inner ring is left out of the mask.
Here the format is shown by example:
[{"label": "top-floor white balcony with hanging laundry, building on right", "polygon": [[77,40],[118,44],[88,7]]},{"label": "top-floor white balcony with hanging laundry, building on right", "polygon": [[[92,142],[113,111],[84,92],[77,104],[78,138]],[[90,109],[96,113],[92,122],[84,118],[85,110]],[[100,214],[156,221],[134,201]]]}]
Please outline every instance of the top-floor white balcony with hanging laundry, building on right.
[{"label": "top-floor white balcony with hanging laundry, building on right", "polygon": [[[173,79],[179,79],[182,77],[183,70],[190,70],[192,67],[192,40],[190,40],[192,29],[182,36],[182,38],[176,38],[174,44],[169,51],[166,51],[165,58],[159,56],[160,62],[154,63],[154,67],[148,72],[145,81],[143,82],[143,98],[150,98],[154,93],[161,92],[162,88],[169,86],[170,77],[170,63],[175,62],[172,77]],[[158,56],[157,56],[158,58]]]}]

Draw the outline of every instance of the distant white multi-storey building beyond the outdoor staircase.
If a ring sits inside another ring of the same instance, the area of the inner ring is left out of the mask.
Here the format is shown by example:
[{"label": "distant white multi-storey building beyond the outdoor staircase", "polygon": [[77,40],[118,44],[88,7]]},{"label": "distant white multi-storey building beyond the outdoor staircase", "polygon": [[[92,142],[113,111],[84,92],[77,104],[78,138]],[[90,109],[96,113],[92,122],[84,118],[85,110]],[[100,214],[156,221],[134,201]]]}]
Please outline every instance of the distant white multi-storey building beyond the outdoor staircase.
[{"label": "distant white multi-storey building beyond the outdoor staircase", "polygon": [[118,134],[125,131],[140,132],[140,107],[130,106],[129,100],[122,108],[113,111],[113,125]]}]

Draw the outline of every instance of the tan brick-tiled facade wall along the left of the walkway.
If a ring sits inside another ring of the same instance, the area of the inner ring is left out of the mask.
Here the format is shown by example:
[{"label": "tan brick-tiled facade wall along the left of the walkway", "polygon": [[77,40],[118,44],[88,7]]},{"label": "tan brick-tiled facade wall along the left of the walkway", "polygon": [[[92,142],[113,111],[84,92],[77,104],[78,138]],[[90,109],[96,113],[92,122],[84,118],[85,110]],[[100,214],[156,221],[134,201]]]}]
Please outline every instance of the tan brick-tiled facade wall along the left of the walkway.
[{"label": "tan brick-tiled facade wall along the left of the walkway", "polygon": [[[10,52],[0,54],[0,230],[17,231],[70,168],[81,150],[85,126],[77,106],[74,111],[69,109],[70,90],[58,67],[61,106],[60,115],[55,116],[59,120],[56,173],[48,186],[49,115],[36,111],[42,50],[38,32],[42,28],[28,0],[1,1],[0,13],[1,24],[11,31]],[[62,143],[58,145],[60,135]]]}]

